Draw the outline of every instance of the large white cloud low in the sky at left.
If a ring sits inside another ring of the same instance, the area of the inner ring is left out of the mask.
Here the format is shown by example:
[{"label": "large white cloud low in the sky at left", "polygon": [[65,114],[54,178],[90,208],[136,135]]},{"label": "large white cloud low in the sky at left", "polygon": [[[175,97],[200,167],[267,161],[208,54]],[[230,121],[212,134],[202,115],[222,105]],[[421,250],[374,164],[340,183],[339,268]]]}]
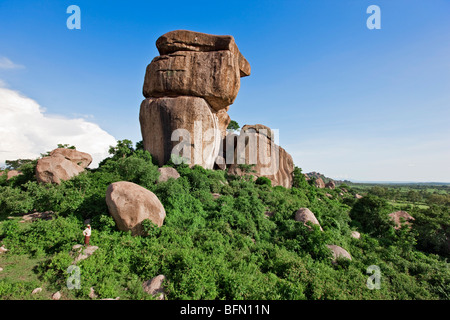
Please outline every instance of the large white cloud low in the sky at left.
[{"label": "large white cloud low in the sky at left", "polygon": [[39,104],[19,92],[0,88],[0,165],[5,160],[34,159],[58,143],[89,153],[90,168],[108,156],[116,139],[85,119],[49,116]]}]

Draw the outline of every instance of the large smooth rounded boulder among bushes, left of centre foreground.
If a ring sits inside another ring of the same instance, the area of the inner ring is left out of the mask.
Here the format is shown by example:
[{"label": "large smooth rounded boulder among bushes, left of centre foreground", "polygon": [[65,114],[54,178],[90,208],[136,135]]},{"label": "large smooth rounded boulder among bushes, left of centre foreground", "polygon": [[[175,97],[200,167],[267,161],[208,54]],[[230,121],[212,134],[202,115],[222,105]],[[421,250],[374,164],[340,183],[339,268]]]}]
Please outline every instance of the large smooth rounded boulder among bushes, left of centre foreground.
[{"label": "large smooth rounded boulder among bushes, left of centre foreground", "polygon": [[106,204],[119,230],[131,230],[132,235],[144,235],[142,221],[150,219],[161,227],[166,217],[158,197],[132,182],[110,184],[106,191]]}]

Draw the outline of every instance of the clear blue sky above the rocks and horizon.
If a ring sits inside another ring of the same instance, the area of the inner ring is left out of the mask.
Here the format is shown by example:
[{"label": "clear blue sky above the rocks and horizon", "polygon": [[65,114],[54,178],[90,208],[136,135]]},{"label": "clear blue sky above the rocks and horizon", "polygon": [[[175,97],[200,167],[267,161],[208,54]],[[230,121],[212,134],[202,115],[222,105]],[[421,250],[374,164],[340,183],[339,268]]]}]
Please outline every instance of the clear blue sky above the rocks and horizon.
[{"label": "clear blue sky above the rocks and horizon", "polygon": [[[72,4],[81,30],[66,27]],[[279,129],[304,172],[450,182],[449,17],[447,0],[0,1],[0,84],[136,142],[156,39],[229,34],[252,67],[230,117]]]}]

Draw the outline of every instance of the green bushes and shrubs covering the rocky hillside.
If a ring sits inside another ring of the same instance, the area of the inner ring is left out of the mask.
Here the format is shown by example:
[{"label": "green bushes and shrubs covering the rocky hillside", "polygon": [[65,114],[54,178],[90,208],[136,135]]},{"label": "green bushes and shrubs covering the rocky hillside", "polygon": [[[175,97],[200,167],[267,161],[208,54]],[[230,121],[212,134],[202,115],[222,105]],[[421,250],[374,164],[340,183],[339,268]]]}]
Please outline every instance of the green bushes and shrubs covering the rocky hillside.
[{"label": "green bushes and shrubs covering the rocky hillside", "polygon": [[[0,254],[0,299],[49,299],[56,291],[89,299],[91,287],[99,298],[152,299],[142,283],[158,274],[167,278],[168,299],[450,298],[448,204],[416,208],[413,228],[396,231],[383,196],[356,200],[349,186],[317,189],[300,168],[291,189],[254,182],[251,171],[239,177],[187,165],[173,165],[179,179],[157,184],[158,167],[141,144],[119,141],[110,151],[98,169],[61,185],[38,184],[35,162],[8,181],[0,176],[0,241],[9,250]],[[163,226],[147,223],[142,237],[118,231],[105,203],[116,181],[154,192],[166,210]],[[294,220],[301,207],[323,232]],[[55,218],[19,222],[33,210]],[[72,247],[82,243],[88,218],[99,249],[77,263],[81,289],[69,290]],[[333,264],[327,244],[346,249],[352,261]],[[379,290],[366,286],[371,265],[381,270]],[[31,295],[36,287],[42,293]]]}]

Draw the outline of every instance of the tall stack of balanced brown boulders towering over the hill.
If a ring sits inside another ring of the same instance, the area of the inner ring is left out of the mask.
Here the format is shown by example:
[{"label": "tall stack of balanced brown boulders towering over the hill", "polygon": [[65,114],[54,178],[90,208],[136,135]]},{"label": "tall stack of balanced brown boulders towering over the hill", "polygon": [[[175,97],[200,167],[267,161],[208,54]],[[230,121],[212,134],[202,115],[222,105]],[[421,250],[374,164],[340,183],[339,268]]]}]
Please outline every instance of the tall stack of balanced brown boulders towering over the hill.
[{"label": "tall stack of balanced brown boulders towering over the hill", "polygon": [[176,30],[156,46],[161,56],[147,66],[139,115],[144,149],[160,166],[174,152],[212,169],[230,122],[228,108],[250,65],[232,36]]}]

